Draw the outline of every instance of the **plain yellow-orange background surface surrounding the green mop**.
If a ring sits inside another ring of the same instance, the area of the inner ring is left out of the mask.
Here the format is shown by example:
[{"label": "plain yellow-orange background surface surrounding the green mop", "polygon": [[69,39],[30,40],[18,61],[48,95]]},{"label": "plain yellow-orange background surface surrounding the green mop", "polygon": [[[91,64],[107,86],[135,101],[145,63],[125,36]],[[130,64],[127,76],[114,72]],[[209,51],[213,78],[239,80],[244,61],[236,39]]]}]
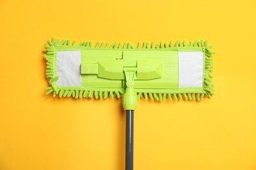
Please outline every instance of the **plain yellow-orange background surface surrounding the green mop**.
[{"label": "plain yellow-orange background surface surrounding the green mop", "polygon": [[121,99],[45,95],[43,46],[209,39],[215,95],[140,100],[134,169],[256,169],[256,1],[0,1],[0,169],[125,165]]}]

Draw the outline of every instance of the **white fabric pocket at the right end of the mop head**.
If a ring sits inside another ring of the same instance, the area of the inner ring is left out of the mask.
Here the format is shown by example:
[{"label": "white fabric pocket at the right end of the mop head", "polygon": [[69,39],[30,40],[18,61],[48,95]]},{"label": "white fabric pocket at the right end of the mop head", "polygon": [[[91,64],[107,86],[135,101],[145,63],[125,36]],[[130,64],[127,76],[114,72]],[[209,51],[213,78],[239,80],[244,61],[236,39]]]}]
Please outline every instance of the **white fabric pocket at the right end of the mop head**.
[{"label": "white fabric pocket at the right end of the mop head", "polygon": [[179,88],[203,86],[203,52],[178,52]]}]

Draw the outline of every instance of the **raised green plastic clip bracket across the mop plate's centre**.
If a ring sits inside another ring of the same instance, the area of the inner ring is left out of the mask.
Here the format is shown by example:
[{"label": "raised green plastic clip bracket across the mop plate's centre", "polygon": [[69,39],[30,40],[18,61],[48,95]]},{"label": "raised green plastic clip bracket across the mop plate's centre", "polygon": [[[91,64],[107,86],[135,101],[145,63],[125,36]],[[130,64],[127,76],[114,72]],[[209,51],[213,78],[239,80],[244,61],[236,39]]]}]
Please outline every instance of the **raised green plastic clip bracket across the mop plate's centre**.
[{"label": "raised green plastic clip bracket across the mop plate's centre", "polygon": [[[133,64],[135,63],[135,64]],[[97,75],[110,80],[125,80],[123,68],[137,68],[136,80],[161,78],[163,64],[158,59],[108,59],[98,63],[82,63],[82,75]]]}]

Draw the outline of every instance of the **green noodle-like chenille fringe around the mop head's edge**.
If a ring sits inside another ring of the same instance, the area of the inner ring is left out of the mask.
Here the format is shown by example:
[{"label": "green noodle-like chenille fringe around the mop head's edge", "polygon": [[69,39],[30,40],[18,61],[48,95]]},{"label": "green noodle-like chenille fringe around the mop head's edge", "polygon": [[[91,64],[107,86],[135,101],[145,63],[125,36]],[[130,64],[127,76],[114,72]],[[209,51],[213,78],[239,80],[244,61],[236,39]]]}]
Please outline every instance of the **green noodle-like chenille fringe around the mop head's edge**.
[{"label": "green noodle-like chenille fringe around the mop head's edge", "polygon": [[76,44],[76,41],[73,41],[72,43],[68,39],[64,39],[60,41],[60,39],[53,38],[52,40],[49,39],[49,41],[45,44],[45,49],[43,50],[45,52],[44,57],[47,60],[47,69],[46,69],[46,78],[49,81],[50,86],[46,88],[47,92],[46,94],[52,93],[55,97],[58,95],[58,97],[74,97],[75,99],[78,98],[93,98],[95,99],[106,99],[108,97],[114,98],[114,97],[121,97],[123,94],[123,90],[117,90],[117,91],[109,91],[109,90],[59,90],[56,86],[56,80],[58,79],[58,76],[56,75],[55,71],[55,61],[54,61],[54,55],[56,55],[56,51],[54,46],[56,45],[62,45],[62,46],[84,46],[88,48],[108,48],[108,49],[140,49],[140,48],[173,48],[173,47],[186,47],[186,46],[194,46],[194,47],[200,47],[203,49],[203,52],[205,54],[205,72],[204,72],[204,81],[203,81],[203,93],[138,93],[139,99],[144,98],[145,100],[151,99],[152,101],[165,101],[166,99],[169,99],[169,101],[178,101],[179,99],[189,100],[189,101],[201,101],[203,100],[203,97],[209,97],[211,98],[211,95],[214,95],[213,90],[213,81],[211,78],[213,78],[213,75],[211,72],[213,71],[213,54],[214,52],[211,52],[212,46],[208,45],[208,41],[203,40],[197,40],[194,42],[187,42],[187,41],[180,41],[177,42],[160,42],[156,44],[155,42],[139,42],[137,47],[133,46],[131,42],[114,42],[113,44],[110,44],[109,42],[96,42],[95,46],[93,46],[93,42],[80,42],[79,44]]}]

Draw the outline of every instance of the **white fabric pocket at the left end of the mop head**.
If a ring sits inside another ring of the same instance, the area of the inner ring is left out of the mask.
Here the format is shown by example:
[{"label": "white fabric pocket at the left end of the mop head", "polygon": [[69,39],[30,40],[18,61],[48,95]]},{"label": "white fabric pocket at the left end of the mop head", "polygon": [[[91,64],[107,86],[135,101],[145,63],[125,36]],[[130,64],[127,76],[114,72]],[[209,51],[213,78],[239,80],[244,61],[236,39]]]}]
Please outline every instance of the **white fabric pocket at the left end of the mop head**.
[{"label": "white fabric pocket at the left end of the mop head", "polygon": [[81,86],[81,52],[58,51],[56,52],[56,81],[57,86]]}]

